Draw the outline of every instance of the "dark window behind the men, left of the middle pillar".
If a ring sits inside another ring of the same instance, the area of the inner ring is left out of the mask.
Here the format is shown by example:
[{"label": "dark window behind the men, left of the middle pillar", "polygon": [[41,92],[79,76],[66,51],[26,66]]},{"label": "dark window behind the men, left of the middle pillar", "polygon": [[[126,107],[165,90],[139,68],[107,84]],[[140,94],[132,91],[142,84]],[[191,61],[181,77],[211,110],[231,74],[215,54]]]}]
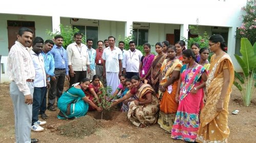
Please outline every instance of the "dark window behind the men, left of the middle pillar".
[{"label": "dark window behind the men, left of the middle pillar", "polygon": [[81,26],[81,25],[73,25],[73,28],[76,27],[82,33],[86,36],[86,39],[92,39],[93,40],[93,48],[97,48],[97,42],[98,42],[98,26]]}]

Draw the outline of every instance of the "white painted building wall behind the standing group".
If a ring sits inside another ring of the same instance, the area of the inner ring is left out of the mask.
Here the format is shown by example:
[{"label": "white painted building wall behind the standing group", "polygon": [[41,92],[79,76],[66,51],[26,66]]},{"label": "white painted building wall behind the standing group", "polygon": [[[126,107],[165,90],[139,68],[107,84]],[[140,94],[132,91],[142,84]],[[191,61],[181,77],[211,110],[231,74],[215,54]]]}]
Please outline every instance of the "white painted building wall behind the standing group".
[{"label": "white painted building wall behind the standing group", "polygon": [[[138,21],[151,23],[148,41],[151,44],[161,42],[166,39],[167,31],[172,32],[172,25],[157,24],[157,23],[174,23],[181,24],[181,36],[186,35],[186,29],[188,25],[205,25],[205,26],[224,26],[229,27],[229,39],[228,39],[228,54],[231,55],[234,63],[234,68],[237,71],[241,71],[234,59],[234,47],[235,39],[234,34],[236,27],[241,25],[241,21],[238,19],[241,14],[241,8],[246,5],[247,0],[179,0],[179,1],[135,1],[131,0],[127,3],[113,0],[111,3],[104,3],[102,1],[91,1],[91,6],[97,6],[97,10],[94,10],[90,14],[84,11],[76,11],[77,7],[71,7],[69,3],[62,3],[59,5],[59,1],[46,0],[40,4],[40,7],[32,0],[26,1],[5,1],[5,5],[0,5],[0,44],[2,55],[8,54],[8,39],[7,39],[7,22],[6,20],[28,20],[36,21],[36,36],[46,38],[45,30],[51,28],[54,23],[52,17],[73,17],[84,19],[100,19],[99,22],[99,39],[106,39],[109,35],[113,35],[118,38],[119,35],[125,35],[125,31],[121,31],[122,27],[125,28],[125,22]],[[49,7],[51,4],[51,7]],[[87,6],[87,1],[76,1],[79,6]],[[143,7],[145,9],[132,9],[134,5]],[[158,4],[158,5],[156,5]],[[161,6],[168,7],[162,9]],[[8,7],[8,6],[11,6]],[[46,8],[58,10],[46,10]],[[125,9],[126,8],[126,9]],[[131,9],[131,10],[130,10]],[[8,14],[8,16],[3,16]],[[13,15],[9,15],[13,14]],[[25,18],[20,19],[18,15],[25,15]],[[198,19],[198,22],[197,22]],[[106,20],[106,21],[104,21]],[[60,18],[61,23],[70,24],[69,18]],[[122,21],[117,22],[117,21]],[[183,26],[185,25],[185,26]],[[56,27],[56,26],[54,26]],[[171,27],[171,28],[168,28]],[[200,32],[209,31],[208,28],[200,30]],[[169,32],[168,32],[169,33]],[[170,33],[172,34],[172,33]],[[233,48],[230,48],[233,47]],[[2,57],[2,61],[4,58]],[[2,62],[1,62],[2,63]],[[6,66],[5,66],[6,67]],[[3,75],[1,76],[1,82]]]}]

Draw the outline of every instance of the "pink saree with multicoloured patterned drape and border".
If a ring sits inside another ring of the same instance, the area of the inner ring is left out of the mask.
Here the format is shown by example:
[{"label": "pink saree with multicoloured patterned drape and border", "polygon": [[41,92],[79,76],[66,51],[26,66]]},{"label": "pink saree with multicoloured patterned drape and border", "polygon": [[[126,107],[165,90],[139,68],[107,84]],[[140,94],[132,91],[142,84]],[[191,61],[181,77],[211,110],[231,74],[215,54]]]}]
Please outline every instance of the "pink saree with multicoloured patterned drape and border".
[{"label": "pink saree with multicoloured patterned drape and border", "polygon": [[[187,73],[187,71],[189,72]],[[205,69],[201,65],[182,71],[180,103],[172,128],[172,138],[196,141],[199,128],[199,110],[203,100],[203,89],[199,89],[196,94],[190,93],[190,91],[201,84],[198,80],[204,71]]]}]

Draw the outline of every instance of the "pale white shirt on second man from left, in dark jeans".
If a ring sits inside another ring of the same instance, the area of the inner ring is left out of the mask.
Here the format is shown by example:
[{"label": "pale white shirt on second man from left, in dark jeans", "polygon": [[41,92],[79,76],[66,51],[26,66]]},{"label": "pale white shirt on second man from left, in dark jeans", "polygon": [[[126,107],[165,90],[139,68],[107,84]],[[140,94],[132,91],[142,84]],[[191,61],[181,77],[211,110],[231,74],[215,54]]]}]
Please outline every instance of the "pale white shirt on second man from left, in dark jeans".
[{"label": "pale white shirt on second man from left, in dark jeans", "polygon": [[34,87],[46,87],[46,71],[44,57],[42,57],[41,53],[37,55],[33,50],[30,51],[30,54],[33,61],[33,65],[35,67]]}]

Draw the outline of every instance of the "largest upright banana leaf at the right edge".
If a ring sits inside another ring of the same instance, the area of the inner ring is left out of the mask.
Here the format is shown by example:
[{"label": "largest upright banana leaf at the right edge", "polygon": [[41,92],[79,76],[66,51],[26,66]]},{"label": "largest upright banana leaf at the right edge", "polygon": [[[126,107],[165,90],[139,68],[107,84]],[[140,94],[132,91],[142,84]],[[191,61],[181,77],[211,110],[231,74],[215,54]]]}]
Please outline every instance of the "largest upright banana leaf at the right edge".
[{"label": "largest upright banana leaf at the right edge", "polygon": [[254,50],[250,41],[247,38],[241,39],[241,49],[242,59],[249,70],[252,70],[256,66],[256,56],[254,55]]}]

